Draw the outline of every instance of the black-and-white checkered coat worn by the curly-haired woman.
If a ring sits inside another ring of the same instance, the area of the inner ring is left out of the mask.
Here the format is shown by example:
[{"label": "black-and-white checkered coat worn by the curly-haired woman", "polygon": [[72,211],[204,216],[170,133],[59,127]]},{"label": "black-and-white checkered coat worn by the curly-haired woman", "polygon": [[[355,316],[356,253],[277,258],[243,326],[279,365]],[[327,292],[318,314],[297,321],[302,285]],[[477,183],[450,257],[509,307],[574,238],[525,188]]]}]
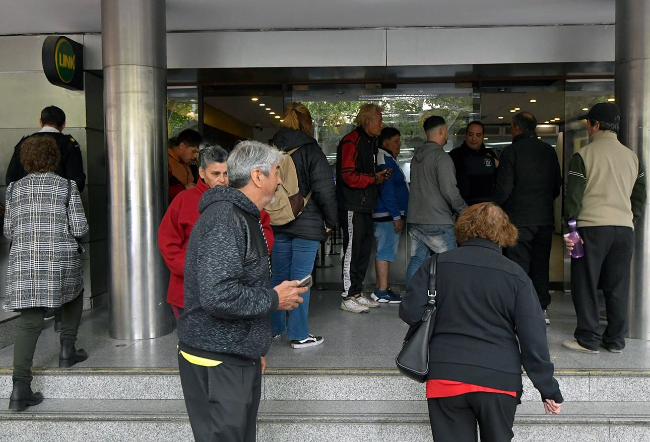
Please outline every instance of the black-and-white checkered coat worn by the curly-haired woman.
[{"label": "black-and-white checkered coat worn by the curly-haired woman", "polygon": [[12,240],[5,310],[59,307],[81,293],[77,239],[88,221],[77,184],[53,172],[30,173],[6,188],[4,232]]}]

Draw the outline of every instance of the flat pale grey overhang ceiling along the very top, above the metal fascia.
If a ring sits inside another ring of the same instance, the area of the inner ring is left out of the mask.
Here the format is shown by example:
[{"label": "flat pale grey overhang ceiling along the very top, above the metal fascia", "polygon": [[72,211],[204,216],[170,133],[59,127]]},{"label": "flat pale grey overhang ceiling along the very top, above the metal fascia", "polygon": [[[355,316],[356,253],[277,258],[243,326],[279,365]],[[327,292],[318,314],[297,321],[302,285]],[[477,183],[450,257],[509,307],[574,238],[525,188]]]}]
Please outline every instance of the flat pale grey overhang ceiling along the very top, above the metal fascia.
[{"label": "flat pale grey overhang ceiling along the very top, above the metal fascia", "polygon": [[[109,0],[105,0],[109,1]],[[167,0],[168,31],[614,23],[616,0]],[[100,0],[0,0],[0,35],[101,32]]]}]

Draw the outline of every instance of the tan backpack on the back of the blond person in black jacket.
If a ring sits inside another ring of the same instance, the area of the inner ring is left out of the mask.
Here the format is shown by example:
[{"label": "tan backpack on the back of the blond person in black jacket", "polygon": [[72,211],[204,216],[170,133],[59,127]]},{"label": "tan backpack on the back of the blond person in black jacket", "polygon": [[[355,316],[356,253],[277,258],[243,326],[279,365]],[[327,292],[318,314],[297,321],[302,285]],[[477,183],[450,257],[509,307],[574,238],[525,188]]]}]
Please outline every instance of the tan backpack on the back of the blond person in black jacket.
[{"label": "tan backpack on the back of the blond person in black jacket", "polygon": [[[274,145],[274,147],[278,149],[277,146]],[[296,219],[298,215],[302,214],[311,197],[311,191],[307,193],[306,197],[302,197],[302,193],[300,193],[300,188],[298,187],[296,165],[291,158],[291,154],[300,149],[300,147],[302,146],[298,146],[287,152],[280,162],[278,173],[282,184],[276,189],[274,201],[264,208],[271,217],[272,226],[283,226]]]}]

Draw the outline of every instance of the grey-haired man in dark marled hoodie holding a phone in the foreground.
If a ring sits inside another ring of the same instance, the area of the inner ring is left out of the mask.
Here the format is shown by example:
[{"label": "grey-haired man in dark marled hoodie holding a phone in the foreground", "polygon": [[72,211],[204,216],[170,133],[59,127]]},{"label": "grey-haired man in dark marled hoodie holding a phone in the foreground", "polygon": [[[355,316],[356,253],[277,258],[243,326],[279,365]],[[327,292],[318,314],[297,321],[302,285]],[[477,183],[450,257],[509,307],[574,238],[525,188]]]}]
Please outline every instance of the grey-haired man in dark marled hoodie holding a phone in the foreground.
[{"label": "grey-haired man in dark marled hoodie holding a phone in the foreground", "polygon": [[306,287],[269,289],[270,260],[260,210],[274,197],[282,153],[242,141],[228,158],[230,187],[201,197],[185,253],[185,310],[178,365],[196,441],[255,441],[269,313],[291,310]]}]

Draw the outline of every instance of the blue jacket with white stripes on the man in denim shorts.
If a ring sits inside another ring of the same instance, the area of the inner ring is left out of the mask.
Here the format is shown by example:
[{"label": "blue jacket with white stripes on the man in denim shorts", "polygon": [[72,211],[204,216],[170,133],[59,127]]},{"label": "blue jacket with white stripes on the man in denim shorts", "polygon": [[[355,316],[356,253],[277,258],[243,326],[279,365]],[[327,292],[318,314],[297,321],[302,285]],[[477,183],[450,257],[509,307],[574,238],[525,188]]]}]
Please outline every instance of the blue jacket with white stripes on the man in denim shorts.
[{"label": "blue jacket with white stripes on the man in denim shorts", "polygon": [[372,212],[373,221],[398,221],[406,217],[408,209],[408,184],[400,166],[383,147],[377,153],[377,170],[393,169],[391,178],[379,185],[377,206]]}]

